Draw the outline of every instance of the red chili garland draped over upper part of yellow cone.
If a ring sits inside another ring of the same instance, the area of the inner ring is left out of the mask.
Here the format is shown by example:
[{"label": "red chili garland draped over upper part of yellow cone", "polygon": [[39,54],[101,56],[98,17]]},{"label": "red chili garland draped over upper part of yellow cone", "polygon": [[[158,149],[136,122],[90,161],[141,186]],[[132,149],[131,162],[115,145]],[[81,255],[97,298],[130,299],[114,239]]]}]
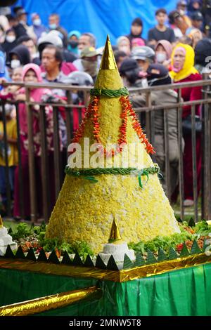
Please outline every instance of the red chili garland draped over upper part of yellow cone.
[{"label": "red chili garland draped over upper part of yellow cone", "polygon": [[[84,136],[85,124],[87,123],[87,120],[91,118],[91,121],[93,122],[93,126],[94,126],[94,131],[93,131],[94,138],[96,139],[98,144],[102,145],[100,138],[101,128],[98,120],[101,115],[98,112],[99,110],[98,102],[99,102],[99,97],[94,96],[93,100],[91,101],[91,103],[87,108],[87,112],[85,114],[84,119],[82,120],[82,124],[79,126],[77,132],[75,133],[72,143],[79,143],[80,138]],[[132,105],[129,102],[129,97],[121,96],[120,103],[122,104],[122,113],[120,114],[120,118],[122,119],[122,124],[120,126],[120,130],[119,130],[120,134],[117,140],[117,143],[120,147],[117,147],[116,150],[112,150],[111,152],[108,152],[106,148],[103,148],[104,154],[106,154],[107,156],[111,156],[111,155],[114,156],[115,154],[122,152],[122,147],[121,147],[122,144],[127,144],[126,134],[127,134],[128,114],[129,116],[132,117],[132,126],[136,131],[137,135],[139,136],[141,143],[144,143],[146,145],[146,151],[148,152],[148,154],[149,153],[154,154],[155,150],[153,149],[151,143],[148,142],[148,139],[146,138],[146,134],[144,134],[142,131],[141,125],[139,124],[139,119],[137,118],[137,115],[134,112],[134,110],[132,110]]]}]

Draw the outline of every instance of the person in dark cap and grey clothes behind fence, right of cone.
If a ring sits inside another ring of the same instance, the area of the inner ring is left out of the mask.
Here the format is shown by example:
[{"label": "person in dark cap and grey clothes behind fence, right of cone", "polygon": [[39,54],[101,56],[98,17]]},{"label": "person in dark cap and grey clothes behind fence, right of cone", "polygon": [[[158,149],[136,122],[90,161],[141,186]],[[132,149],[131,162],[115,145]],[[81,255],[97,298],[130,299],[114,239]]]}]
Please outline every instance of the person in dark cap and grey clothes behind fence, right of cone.
[{"label": "person in dark cap and grey clothes behind fence, right of cone", "polygon": [[[148,85],[149,86],[161,86],[170,85],[172,80],[170,78],[168,70],[163,65],[152,64],[148,67]],[[134,109],[136,107],[146,106],[146,94],[132,95],[132,104]],[[167,111],[167,122],[168,122],[168,147],[169,147],[169,162],[170,162],[170,196],[172,196],[175,187],[178,184],[179,178],[179,145],[178,145],[178,125],[177,125],[177,92],[172,89],[165,89],[163,91],[152,91],[151,92],[152,105],[163,106],[167,103],[168,105],[174,105],[170,111]],[[165,125],[164,125],[164,109],[156,110],[154,114],[154,147],[156,150],[155,161],[158,162],[160,171],[163,175],[161,180],[162,187],[167,193],[167,181],[165,173]],[[184,141],[183,141],[184,142]]]}]

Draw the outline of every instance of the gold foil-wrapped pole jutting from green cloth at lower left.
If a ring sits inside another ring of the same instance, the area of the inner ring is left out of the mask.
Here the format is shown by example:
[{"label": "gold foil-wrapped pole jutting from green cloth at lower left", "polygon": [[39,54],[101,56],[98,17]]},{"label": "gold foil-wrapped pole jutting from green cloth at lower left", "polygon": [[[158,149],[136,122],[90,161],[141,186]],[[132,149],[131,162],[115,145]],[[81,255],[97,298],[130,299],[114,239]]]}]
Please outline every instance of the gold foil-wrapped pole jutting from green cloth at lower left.
[{"label": "gold foil-wrapped pole jutting from green cloth at lower left", "polygon": [[46,310],[55,310],[56,308],[65,307],[84,298],[88,298],[97,291],[101,291],[101,289],[91,286],[87,289],[57,293],[51,296],[24,301],[23,303],[6,305],[0,308],[0,316],[26,316],[45,312]]}]

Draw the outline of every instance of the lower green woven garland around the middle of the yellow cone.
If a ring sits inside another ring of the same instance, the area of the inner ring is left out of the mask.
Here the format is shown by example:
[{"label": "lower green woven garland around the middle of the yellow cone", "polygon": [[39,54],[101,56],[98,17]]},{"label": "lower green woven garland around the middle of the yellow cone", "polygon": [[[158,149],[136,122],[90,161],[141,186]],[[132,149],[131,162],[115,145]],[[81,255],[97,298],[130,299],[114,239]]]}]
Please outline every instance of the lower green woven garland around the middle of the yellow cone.
[{"label": "lower green woven garland around the middle of the yellow cone", "polygon": [[139,186],[143,188],[143,184],[141,182],[141,176],[146,176],[148,181],[148,175],[149,174],[155,174],[159,173],[160,169],[158,164],[154,164],[154,166],[147,167],[146,169],[136,169],[135,167],[128,167],[127,169],[124,169],[123,167],[111,167],[103,169],[101,167],[96,167],[96,169],[82,169],[82,170],[75,170],[71,169],[68,165],[65,167],[65,173],[68,174],[68,176],[83,176],[86,180],[91,180],[93,183],[97,183],[98,180],[94,178],[94,176],[98,176],[101,174],[113,174],[113,175],[122,175],[122,176],[128,176],[128,175],[134,175],[138,176],[139,178]]}]

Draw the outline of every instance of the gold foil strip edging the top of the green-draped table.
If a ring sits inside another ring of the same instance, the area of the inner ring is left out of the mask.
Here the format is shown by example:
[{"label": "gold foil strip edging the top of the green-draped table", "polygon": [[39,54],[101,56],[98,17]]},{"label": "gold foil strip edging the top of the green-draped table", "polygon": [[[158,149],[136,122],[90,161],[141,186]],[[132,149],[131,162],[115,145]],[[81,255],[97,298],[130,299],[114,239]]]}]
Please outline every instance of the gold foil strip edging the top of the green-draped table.
[{"label": "gold foil strip edging the top of the green-draped table", "polygon": [[30,260],[0,260],[0,268],[27,270],[32,272],[41,272],[44,274],[69,276],[69,277],[92,277],[94,279],[108,280],[113,282],[127,282],[142,277],[150,277],[160,275],[164,272],[188,268],[203,263],[210,263],[211,256],[205,253],[195,254],[175,260],[162,261],[161,263],[153,263],[152,265],[143,265],[141,267],[130,268],[127,270],[101,270],[99,268],[86,268],[69,265],[56,265],[51,263],[34,262]]}]

